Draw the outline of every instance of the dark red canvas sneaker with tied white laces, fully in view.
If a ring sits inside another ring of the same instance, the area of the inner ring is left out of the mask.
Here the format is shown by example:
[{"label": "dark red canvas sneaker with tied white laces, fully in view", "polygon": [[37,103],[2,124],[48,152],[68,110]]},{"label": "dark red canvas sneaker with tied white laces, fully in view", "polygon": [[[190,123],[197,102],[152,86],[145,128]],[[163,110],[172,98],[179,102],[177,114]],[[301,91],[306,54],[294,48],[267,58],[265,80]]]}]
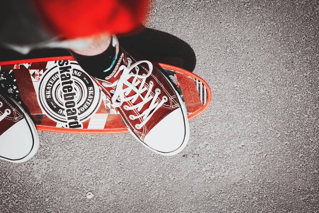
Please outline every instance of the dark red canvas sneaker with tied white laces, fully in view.
[{"label": "dark red canvas sneaker with tied white laces, fully in view", "polygon": [[151,62],[136,61],[115,42],[121,54],[117,65],[111,75],[95,78],[96,83],[117,107],[137,140],[159,154],[179,153],[189,139],[189,123],[181,97]]}]

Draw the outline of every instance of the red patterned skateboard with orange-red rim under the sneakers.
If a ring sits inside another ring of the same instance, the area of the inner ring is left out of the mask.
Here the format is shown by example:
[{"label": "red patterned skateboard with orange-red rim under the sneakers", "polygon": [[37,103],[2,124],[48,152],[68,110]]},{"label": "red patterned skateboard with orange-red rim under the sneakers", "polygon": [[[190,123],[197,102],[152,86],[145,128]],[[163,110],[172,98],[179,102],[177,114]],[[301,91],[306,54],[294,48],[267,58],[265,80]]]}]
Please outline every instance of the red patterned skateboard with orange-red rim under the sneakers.
[{"label": "red patterned skateboard with orange-red rim under the sneakers", "polygon": [[[59,62],[63,60],[71,66],[68,81],[61,79],[59,73]],[[175,85],[189,120],[207,109],[211,91],[202,78],[180,67],[152,63]],[[78,134],[129,132],[111,101],[71,56],[4,61],[0,66],[0,91],[26,110],[37,130]],[[70,108],[77,112],[66,116]]]}]

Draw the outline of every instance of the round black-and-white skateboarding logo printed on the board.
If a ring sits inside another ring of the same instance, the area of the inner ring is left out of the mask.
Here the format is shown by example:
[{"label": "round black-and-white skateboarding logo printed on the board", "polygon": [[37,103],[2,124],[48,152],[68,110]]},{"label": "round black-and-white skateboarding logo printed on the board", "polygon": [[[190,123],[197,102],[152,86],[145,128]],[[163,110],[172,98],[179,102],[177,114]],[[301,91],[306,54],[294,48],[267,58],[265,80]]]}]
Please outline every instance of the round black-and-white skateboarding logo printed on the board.
[{"label": "round black-and-white skateboarding logo printed on the board", "polygon": [[55,61],[42,76],[39,103],[46,115],[64,127],[82,128],[100,105],[101,92],[76,61]]}]

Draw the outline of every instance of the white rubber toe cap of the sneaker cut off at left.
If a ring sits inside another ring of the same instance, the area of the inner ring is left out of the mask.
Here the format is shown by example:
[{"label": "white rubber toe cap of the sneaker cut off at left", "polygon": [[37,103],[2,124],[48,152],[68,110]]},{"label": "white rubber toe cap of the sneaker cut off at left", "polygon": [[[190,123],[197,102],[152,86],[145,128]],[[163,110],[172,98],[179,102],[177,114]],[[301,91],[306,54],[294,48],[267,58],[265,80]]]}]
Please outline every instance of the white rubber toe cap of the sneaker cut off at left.
[{"label": "white rubber toe cap of the sneaker cut off at left", "polygon": [[34,145],[34,138],[26,119],[13,124],[0,136],[0,156],[9,160],[26,158]]}]

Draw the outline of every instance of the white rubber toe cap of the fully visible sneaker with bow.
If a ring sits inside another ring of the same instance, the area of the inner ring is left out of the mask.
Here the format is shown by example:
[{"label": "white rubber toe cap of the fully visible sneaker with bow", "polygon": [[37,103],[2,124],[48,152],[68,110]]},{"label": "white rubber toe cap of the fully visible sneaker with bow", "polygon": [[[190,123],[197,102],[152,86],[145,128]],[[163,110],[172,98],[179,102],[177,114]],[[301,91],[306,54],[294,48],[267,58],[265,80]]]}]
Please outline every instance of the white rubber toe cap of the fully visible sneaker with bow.
[{"label": "white rubber toe cap of the fully visible sneaker with bow", "polygon": [[188,139],[188,120],[185,121],[181,108],[178,108],[148,132],[144,138],[144,143],[160,154],[173,155],[182,151]]}]

